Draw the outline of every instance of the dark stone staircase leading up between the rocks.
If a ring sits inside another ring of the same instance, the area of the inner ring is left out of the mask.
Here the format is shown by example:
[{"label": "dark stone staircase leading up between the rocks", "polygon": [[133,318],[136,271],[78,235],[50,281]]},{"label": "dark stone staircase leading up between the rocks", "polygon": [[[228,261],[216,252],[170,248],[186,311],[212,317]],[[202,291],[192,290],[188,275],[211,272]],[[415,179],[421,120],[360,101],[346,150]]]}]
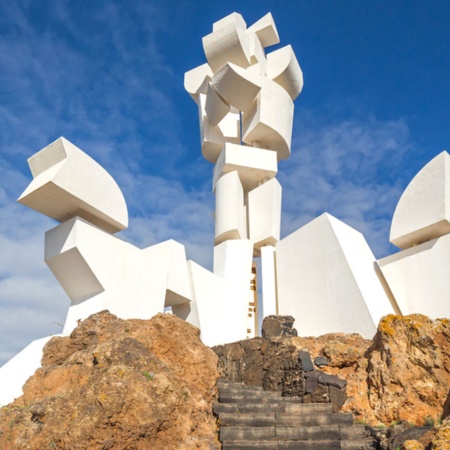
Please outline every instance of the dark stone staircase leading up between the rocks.
[{"label": "dark stone staircase leading up between the rocks", "polygon": [[353,415],[333,413],[330,403],[302,403],[299,397],[220,380],[219,417],[223,449],[328,450],[376,449]]}]

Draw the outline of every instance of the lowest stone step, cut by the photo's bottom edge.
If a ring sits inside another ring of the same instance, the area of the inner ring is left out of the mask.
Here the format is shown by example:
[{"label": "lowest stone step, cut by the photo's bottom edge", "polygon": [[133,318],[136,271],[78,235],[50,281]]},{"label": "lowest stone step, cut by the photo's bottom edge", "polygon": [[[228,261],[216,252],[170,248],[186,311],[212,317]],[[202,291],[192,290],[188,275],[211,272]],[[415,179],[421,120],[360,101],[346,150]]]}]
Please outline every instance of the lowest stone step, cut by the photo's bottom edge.
[{"label": "lowest stone step, cut by the photo's bottom edge", "polygon": [[339,441],[224,441],[223,450],[337,450]]}]

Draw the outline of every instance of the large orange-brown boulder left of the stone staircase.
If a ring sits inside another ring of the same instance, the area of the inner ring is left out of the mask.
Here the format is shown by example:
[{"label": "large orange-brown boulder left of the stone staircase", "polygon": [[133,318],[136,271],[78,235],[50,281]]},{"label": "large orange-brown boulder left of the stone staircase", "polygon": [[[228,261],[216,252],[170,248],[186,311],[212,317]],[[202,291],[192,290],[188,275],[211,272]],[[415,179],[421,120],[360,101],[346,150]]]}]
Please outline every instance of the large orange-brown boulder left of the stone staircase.
[{"label": "large orange-brown boulder left of the stone staircase", "polygon": [[218,449],[218,376],[181,319],[101,312],[47,344],[24,395],[0,409],[0,448]]}]

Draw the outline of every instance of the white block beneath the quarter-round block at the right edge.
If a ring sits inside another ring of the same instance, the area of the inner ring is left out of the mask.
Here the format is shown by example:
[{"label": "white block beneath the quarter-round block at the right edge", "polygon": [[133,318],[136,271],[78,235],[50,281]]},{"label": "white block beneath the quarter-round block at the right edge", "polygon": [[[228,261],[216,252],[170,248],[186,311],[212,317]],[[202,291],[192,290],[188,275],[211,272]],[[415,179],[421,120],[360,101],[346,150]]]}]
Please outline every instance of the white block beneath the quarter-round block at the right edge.
[{"label": "white block beneath the quarter-round block at the right edge", "polygon": [[378,263],[403,315],[450,317],[450,234]]}]

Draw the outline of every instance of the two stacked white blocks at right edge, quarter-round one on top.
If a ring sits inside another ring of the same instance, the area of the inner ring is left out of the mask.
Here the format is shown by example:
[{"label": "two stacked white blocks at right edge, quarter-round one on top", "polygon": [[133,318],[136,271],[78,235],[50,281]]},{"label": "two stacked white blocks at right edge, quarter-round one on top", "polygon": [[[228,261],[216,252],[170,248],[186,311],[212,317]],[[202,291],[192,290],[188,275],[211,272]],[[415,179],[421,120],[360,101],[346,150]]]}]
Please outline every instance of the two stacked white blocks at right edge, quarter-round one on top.
[{"label": "two stacked white blocks at right edge, quarter-round one on top", "polygon": [[391,225],[403,251],[379,261],[402,314],[450,317],[450,156],[442,152],[413,178]]}]

